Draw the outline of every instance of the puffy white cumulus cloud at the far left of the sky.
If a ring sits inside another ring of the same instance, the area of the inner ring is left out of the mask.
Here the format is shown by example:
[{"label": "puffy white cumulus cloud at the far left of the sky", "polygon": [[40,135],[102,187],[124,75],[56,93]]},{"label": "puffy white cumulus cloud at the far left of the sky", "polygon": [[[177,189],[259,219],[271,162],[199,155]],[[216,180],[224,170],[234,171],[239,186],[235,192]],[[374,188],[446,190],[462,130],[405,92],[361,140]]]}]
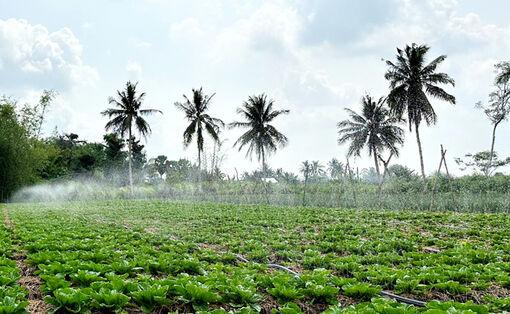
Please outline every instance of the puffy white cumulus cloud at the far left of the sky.
[{"label": "puffy white cumulus cloud at the far left of the sky", "polygon": [[[98,74],[81,56],[82,45],[68,28],[49,32],[23,19],[0,19],[0,63],[4,70],[8,68],[13,83],[28,80],[64,89],[94,83]],[[34,81],[34,74],[40,74],[39,82]]]}]

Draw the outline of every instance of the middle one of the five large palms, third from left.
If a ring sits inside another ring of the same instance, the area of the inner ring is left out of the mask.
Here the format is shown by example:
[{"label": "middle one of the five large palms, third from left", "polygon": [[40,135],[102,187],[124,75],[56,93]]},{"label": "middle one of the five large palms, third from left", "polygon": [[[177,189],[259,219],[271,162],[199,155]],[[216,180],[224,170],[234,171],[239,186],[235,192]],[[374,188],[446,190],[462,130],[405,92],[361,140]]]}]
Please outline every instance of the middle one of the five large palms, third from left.
[{"label": "middle one of the five large palms, third from left", "polygon": [[239,146],[239,151],[248,145],[246,155],[255,152],[257,159],[262,163],[262,172],[266,173],[266,155],[276,152],[278,147],[284,147],[288,140],[285,135],[280,133],[271,123],[281,114],[288,114],[289,110],[273,109],[274,100],[268,100],[265,94],[258,96],[249,96],[241,108],[237,108],[237,113],[242,115],[246,121],[234,121],[229,124],[229,128],[248,129],[234,143]]}]

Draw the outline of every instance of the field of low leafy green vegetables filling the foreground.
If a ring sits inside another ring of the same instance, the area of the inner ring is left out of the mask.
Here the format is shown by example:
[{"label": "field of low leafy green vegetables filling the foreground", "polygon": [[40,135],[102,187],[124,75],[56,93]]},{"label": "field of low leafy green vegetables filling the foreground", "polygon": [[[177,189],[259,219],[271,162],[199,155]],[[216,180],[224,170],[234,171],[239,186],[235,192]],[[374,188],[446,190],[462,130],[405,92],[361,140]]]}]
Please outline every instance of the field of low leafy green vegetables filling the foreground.
[{"label": "field of low leafy green vegetables filling the foreground", "polygon": [[510,311],[508,214],[132,200],[4,216],[0,313]]}]

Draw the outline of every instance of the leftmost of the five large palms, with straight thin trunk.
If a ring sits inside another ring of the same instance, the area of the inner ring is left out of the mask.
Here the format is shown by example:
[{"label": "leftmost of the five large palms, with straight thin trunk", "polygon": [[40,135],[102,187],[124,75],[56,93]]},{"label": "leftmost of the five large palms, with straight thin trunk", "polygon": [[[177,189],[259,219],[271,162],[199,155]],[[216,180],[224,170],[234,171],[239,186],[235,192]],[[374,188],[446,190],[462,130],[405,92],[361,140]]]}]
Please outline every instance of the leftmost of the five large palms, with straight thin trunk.
[{"label": "leftmost of the five large palms, with straight thin trunk", "polygon": [[137,94],[136,86],[138,83],[126,83],[126,89],[123,91],[117,91],[117,99],[110,97],[108,103],[114,105],[114,108],[108,108],[101,112],[103,116],[107,116],[110,121],[106,123],[105,129],[112,130],[115,133],[120,134],[122,138],[128,136],[128,161],[129,161],[129,186],[131,188],[131,195],[133,195],[133,154],[131,147],[131,139],[133,132],[133,124],[136,130],[144,138],[151,133],[149,123],[143,118],[144,116],[151,115],[153,113],[161,113],[160,110],[156,109],[140,109],[142,102],[145,97],[145,93]]}]

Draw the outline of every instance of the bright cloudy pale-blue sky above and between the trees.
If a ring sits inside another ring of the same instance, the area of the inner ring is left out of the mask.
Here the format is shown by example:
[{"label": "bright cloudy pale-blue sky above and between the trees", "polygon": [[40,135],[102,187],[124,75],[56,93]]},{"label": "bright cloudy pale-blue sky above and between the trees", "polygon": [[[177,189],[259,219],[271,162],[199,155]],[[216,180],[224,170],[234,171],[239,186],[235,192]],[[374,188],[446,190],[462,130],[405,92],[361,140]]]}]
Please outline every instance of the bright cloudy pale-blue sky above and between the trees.
[{"label": "bright cloudy pale-blue sky above and between the trees", "polygon": [[[186,122],[173,105],[183,93],[216,92],[211,114],[230,122],[248,95],[265,92],[291,111],[275,123],[289,145],[270,165],[296,171],[306,159],[344,160],[336,142],[343,109],[358,109],[366,92],[387,94],[382,58],[426,43],[430,60],[448,55],[439,70],[456,80],[448,91],[457,104],[432,101],[439,119],[421,130],[425,168],[437,167],[443,144],[455,170],[454,157],[489,148],[490,124],[474,105],[487,100],[493,65],[510,59],[508,12],[507,0],[0,0],[0,94],[34,102],[55,89],[46,134],[57,126],[98,141],[107,98],[139,81],[146,106],[164,112],[149,119],[147,154],[177,159],[196,156],[183,149]],[[510,123],[498,129],[500,155],[510,155],[509,131]],[[223,132],[228,173],[257,167],[231,148],[238,135]],[[419,169],[414,133],[397,162]]]}]

